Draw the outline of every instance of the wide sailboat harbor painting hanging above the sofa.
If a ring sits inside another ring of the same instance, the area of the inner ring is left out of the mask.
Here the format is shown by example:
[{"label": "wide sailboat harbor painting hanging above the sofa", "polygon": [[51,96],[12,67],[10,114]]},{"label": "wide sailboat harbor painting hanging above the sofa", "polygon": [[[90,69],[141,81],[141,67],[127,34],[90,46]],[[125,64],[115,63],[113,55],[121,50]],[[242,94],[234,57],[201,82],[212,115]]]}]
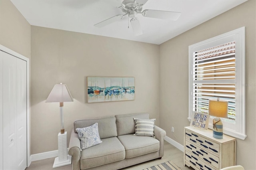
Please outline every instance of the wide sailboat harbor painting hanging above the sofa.
[{"label": "wide sailboat harbor painting hanging above the sofa", "polygon": [[87,77],[87,103],[134,99],[134,77]]}]

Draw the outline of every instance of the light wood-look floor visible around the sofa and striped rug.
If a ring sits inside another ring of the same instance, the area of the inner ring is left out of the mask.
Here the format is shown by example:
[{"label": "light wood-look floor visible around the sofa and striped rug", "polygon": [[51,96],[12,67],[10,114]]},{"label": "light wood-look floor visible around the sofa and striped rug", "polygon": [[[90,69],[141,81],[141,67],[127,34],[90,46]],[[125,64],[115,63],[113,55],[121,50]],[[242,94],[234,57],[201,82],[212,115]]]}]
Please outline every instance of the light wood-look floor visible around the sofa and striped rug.
[{"label": "light wood-look floor visible around the sofa and striped rug", "polygon": [[[52,168],[55,158],[33,161],[26,170],[72,170],[72,165],[66,165],[59,168]],[[164,156],[162,159],[150,160],[141,164],[123,168],[122,170],[143,170],[145,168],[161,164],[163,162],[172,161],[182,170],[192,170],[183,165],[183,152],[168,142],[164,142]]]}]

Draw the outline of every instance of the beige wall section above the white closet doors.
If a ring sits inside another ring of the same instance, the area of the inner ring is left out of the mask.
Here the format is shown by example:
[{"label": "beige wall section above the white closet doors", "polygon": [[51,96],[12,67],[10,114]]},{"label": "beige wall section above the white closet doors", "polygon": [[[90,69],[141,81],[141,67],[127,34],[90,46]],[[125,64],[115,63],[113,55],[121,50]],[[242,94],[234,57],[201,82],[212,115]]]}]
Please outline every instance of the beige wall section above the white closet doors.
[{"label": "beige wall section above the white closet doors", "polygon": [[0,44],[30,58],[30,24],[10,0],[0,0]]}]

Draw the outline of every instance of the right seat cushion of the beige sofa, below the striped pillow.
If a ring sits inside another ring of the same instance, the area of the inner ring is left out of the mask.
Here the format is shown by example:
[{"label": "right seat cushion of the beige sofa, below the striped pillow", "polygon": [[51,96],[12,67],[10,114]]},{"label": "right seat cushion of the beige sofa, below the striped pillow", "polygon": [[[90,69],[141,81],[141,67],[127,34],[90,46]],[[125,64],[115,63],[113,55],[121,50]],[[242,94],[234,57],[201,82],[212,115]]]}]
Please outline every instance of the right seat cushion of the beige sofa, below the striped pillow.
[{"label": "right seat cushion of the beige sofa, below the striped pillow", "polygon": [[134,136],[125,134],[117,136],[125,148],[125,158],[156,152],[160,148],[160,142],[152,136]]}]

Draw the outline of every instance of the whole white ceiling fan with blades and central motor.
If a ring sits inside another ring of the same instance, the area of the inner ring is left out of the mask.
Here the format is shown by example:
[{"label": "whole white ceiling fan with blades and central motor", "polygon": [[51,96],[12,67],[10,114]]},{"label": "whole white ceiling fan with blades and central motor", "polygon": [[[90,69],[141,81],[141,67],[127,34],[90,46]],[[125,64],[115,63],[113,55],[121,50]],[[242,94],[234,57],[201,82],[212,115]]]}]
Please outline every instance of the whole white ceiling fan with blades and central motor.
[{"label": "whole white ceiling fan with blades and central motor", "polygon": [[131,18],[130,22],[134,35],[139,36],[142,34],[142,29],[140,26],[140,21],[136,17],[137,14],[142,14],[142,16],[149,18],[168,19],[174,21],[178,20],[178,18],[180,17],[180,12],[148,9],[142,11],[142,7],[147,1],[148,0],[108,0],[107,2],[112,6],[122,9],[122,12],[124,14],[113,16],[95,24],[94,26],[101,28],[118,20],[121,20],[124,18],[124,16],[128,15],[128,17]]}]

